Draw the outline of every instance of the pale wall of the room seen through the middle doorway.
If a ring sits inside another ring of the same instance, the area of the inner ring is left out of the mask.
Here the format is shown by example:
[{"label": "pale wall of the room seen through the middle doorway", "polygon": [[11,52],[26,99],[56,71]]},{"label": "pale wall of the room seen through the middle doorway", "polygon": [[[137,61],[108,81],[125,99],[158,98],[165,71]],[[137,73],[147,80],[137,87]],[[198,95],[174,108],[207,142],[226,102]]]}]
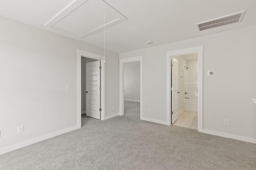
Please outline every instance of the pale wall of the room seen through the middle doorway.
[{"label": "pale wall of the room seen through the middle doorway", "polygon": [[140,62],[124,63],[124,100],[140,102]]}]

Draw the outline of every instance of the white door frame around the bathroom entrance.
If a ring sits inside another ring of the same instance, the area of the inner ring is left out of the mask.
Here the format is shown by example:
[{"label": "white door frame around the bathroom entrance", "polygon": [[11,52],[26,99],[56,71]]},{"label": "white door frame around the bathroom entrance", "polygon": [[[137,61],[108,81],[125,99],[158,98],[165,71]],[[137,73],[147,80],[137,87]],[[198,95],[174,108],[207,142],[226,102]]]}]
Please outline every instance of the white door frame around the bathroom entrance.
[{"label": "white door frame around the bathroom entrance", "polygon": [[170,58],[172,56],[177,55],[186,55],[186,54],[192,54],[192,53],[198,53],[198,131],[202,132],[203,130],[203,51],[204,46],[198,46],[198,47],[191,47],[187,49],[179,49],[174,51],[167,51],[166,52],[166,119],[167,124],[170,125],[170,117],[171,117],[171,111],[170,111],[170,82],[171,82],[171,76],[170,76]]}]

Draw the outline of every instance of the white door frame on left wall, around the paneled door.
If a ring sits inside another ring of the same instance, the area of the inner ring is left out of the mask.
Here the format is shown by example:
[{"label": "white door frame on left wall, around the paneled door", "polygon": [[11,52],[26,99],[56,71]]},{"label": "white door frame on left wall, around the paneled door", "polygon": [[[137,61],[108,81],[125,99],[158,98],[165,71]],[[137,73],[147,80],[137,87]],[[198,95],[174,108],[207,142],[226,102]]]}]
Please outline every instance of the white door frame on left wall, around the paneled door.
[{"label": "white door frame on left wall, around the paneled door", "polygon": [[78,90],[77,90],[77,96],[78,96],[78,106],[77,106],[77,120],[78,120],[78,127],[81,128],[81,57],[87,57],[90,59],[96,59],[100,60],[100,65],[101,65],[101,76],[100,76],[100,82],[101,82],[101,98],[100,98],[100,103],[101,103],[101,113],[100,117],[101,120],[106,119],[106,57],[103,55],[99,55],[96,53],[91,53],[88,51],[80,50],[77,49],[77,73],[78,73]]}]

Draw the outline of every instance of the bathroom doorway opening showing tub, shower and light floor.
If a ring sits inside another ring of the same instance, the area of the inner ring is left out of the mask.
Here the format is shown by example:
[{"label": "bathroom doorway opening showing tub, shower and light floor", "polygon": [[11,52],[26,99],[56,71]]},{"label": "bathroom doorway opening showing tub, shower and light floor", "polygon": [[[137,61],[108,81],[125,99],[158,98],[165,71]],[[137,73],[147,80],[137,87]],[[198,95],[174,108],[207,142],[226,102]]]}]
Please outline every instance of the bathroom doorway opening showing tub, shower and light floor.
[{"label": "bathroom doorway opening showing tub, shower and light floor", "polygon": [[[172,86],[177,81],[177,91],[172,90],[174,97],[174,109],[176,119],[172,119],[172,124],[198,130],[198,53],[178,55],[172,57],[176,61],[177,70],[172,63]],[[177,76],[173,76],[177,72]],[[177,79],[177,80],[176,80]]]}]

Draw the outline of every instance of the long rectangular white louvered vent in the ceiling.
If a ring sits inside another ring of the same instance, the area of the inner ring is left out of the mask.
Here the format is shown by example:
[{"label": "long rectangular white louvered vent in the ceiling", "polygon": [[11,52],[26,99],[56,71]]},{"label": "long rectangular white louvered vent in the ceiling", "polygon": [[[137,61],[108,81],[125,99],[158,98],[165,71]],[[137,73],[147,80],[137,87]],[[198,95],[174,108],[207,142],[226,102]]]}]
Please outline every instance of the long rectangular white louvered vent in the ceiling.
[{"label": "long rectangular white louvered vent in the ceiling", "polygon": [[223,16],[220,18],[215,18],[212,20],[200,22],[200,23],[196,24],[196,27],[197,27],[198,31],[203,31],[206,29],[220,27],[223,25],[231,24],[231,23],[241,22],[242,18],[244,16],[244,13],[245,13],[245,11],[237,12],[235,14],[230,14],[230,15]]}]

